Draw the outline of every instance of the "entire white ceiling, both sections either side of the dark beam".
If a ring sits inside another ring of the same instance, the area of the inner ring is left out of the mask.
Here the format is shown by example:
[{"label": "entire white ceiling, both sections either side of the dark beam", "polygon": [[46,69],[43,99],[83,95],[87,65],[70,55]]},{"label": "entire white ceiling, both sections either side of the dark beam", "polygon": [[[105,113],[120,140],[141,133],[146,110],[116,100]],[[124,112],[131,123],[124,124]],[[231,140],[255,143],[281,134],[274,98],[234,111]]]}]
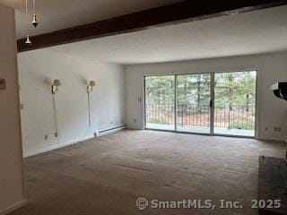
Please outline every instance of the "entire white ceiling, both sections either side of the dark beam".
[{"label": "entire white ceiling, both sections either side of the dark beam", "polygon": [[[32,0],[29,0],[30,3]],[[36,0],[39,27],[30,35],[135,13],[182,0]],[[16,9],[25,36],[24,0],[0,0]],[[144,64],[287,50],[287,6],[142,30],[47,49],[117,64]]]}]

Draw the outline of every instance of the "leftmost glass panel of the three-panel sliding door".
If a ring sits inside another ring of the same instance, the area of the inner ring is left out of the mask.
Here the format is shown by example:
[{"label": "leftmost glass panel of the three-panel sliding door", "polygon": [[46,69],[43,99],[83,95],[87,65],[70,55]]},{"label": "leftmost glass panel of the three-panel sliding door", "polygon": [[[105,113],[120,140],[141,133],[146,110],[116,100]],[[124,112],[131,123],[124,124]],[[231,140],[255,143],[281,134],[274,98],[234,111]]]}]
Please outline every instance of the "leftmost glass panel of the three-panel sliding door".
[{"label": "leftmost glass panel of the three-panel sliding door", "polygon": [[145,128],[175,130],[175,76],[145,77]]}]

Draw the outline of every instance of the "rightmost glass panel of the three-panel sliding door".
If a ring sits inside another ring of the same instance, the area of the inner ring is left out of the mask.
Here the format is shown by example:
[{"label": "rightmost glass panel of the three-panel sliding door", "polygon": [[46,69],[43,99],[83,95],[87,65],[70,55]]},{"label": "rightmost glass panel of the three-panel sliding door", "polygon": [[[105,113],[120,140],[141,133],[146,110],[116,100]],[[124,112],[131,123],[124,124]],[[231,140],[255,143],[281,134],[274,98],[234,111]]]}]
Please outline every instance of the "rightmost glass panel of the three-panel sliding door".
[{"label": "rightmost glass panel of the three-panel sliding door", "polygon": [[214,133],[254,137],[257,72],[214,75]]}]

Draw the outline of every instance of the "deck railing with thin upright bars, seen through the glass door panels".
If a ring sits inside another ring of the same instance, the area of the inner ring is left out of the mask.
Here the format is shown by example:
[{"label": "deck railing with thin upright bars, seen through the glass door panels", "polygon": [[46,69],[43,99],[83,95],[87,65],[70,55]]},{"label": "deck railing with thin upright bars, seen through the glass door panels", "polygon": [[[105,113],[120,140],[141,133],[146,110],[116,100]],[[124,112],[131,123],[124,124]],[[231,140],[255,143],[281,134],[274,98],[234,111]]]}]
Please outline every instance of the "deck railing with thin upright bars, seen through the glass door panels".
[{"label": "deck railing with thin upright bars, seen through the glass door panels", "polygon": [[[146,123],[174,125],[173,105],[146,104]],[[210,126],[209,105],[178,105],[178,126]],[[214,127],[226,129],[255,129],[255,105],[215,106]]]}]

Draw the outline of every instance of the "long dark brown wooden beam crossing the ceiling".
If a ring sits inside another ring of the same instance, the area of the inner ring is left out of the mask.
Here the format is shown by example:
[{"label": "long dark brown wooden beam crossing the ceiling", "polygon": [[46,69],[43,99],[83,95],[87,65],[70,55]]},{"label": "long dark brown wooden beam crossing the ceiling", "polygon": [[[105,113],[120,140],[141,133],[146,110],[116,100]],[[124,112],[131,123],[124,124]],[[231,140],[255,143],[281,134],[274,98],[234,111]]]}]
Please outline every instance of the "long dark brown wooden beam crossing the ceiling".
[{"label": "long dark brown wooden beam crossing the ceiling", "polygon": [[224,15],[245,13],[284,4],[287,4],[287,0],[187,0],[34,36],[30,38],[33,41],[30,46],[25,44],[26,39],[19,39],[17,41],[18,52],[86,39],[102,38],[137,30],[149,30],[154,27],[167,26],[180,22],[193,22]]}]

